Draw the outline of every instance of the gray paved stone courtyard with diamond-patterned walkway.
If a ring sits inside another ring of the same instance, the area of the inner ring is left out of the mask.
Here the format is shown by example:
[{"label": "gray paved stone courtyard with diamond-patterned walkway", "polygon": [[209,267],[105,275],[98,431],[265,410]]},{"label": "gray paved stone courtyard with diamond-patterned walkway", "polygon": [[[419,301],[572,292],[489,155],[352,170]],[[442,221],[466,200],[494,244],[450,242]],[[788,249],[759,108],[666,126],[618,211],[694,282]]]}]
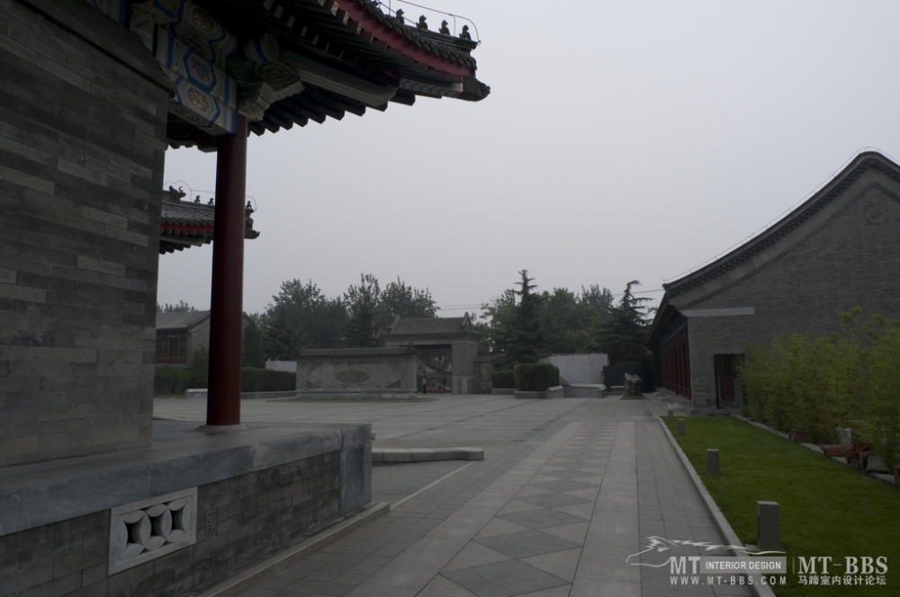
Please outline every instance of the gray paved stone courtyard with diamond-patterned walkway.
[{"label": "gray paved stone courtyard with diamond-patterned walkway", "polygon": [[[245,400],[241,408],[249,426],[368,422],[374,447],[485,450],[480,461],[375,466],[373,500],[392,503],[391,512],[241,597],[750,594],[730,584],[674,585],[668,564],[648,566],[699,548],[636,555],[653,537],[722,542],[655,419],[666,405],[654,398],[445,395],[383,404]],[[205,416],[198,400],[157,399],[155,409],[166,418]]]}]

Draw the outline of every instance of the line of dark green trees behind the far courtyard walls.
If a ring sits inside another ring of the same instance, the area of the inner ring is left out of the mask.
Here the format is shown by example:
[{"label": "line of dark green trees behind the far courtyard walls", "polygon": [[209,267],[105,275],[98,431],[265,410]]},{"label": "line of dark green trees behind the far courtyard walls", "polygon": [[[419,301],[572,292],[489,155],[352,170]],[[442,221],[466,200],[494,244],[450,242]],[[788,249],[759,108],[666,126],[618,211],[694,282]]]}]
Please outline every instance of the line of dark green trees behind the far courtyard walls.
[{"label": "line of dark green trees behind the far courtyard walls", "polygon": [[[638,281],[628,282],[618,301],[599,284],[536,292],[534,279],[520,281],[482,304],[482,316],[470,314],[482,333],[479,354],[498,355],[500,364],[535,362],[550,354],[605,352],[617,365],[643,365],[644,336],[652,309],[649,298],[635,297]],[[312,281],[284,281],[263,313],[249,316],[244,331],[243,365],[264,367],[266,360],[290,361],[301,348],[371,347],[395,316],[436,317],[437,301],[426,288],[400,277],[384,288],[372,274],[360,274],[338,297],[330,298]],[[159,311],[194,307],[157,306]]]}]

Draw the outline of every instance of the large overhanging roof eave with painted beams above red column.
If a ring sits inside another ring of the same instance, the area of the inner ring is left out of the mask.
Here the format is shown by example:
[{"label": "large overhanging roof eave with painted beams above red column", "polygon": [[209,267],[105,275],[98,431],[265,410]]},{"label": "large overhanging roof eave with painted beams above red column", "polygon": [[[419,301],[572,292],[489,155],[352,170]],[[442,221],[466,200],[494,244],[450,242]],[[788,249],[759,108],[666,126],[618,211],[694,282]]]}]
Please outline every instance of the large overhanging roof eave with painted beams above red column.
[{"label": "large overhanging roof eave with painted beams above red column", "polygon": [[468,31],[428,31],[372,0],[86,1],[134,33],[172,81],[172,147],[214,148],[238,113],[261,135],[419,96],[491,92],[475,76],[480,42]]}]

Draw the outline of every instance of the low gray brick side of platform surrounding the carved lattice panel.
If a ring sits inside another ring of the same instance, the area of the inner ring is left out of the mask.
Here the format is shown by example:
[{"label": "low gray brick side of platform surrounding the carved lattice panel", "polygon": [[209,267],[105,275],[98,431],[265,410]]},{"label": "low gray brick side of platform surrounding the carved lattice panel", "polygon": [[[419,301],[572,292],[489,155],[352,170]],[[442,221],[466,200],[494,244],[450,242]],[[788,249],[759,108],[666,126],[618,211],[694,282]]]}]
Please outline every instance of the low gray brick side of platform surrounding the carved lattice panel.
[{"label": "low gray brick side of platform surrounding the carved lattice panel", "polygon": [[0,536],[0,597],[199,593],[335,521],[339,466],[329,452],[201,486],[197,542],[112,576],[109,511]]}]

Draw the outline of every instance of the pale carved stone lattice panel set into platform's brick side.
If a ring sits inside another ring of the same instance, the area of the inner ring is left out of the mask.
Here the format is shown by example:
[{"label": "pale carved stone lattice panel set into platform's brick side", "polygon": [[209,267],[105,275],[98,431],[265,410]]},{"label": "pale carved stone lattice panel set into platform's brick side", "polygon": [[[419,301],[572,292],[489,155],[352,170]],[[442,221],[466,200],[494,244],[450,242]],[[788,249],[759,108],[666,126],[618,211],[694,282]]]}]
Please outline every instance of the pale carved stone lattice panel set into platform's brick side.
[{"label": "pale carved stone lattice panel set into platform's brick side", "polygon": [[197,488],[112,508],[109,574],[197,542]]}]

